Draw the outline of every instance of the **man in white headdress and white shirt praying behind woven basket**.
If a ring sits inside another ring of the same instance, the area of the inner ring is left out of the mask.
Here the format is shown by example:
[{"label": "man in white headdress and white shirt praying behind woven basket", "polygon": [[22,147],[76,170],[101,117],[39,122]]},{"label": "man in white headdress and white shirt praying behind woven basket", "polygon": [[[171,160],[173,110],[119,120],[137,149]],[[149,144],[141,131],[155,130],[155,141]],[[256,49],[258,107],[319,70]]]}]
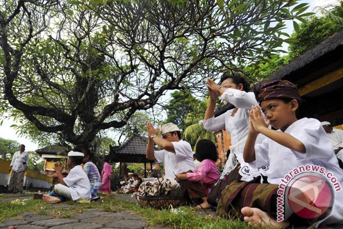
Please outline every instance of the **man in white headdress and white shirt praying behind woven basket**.
[{"label": "man in white headdress and white shirt praying behind woven basket", "polygon": [[[162,138],[158,136],[159,128],[154,128],[151,123],[146,124],[146,129],[149,136],[146,158],[164,163],[166,178],[174,180],[175,174],[194,170],[192,147],[181,140],[180,129],[174,123],[161,126]],[[154,151],[154,144],[162,150]]]}]

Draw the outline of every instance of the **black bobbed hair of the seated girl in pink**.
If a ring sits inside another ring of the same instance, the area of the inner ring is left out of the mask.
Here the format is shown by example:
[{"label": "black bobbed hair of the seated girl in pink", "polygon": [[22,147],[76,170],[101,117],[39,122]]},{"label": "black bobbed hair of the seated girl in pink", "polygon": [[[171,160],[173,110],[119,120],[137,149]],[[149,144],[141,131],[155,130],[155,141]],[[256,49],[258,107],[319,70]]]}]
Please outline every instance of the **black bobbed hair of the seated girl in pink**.
[{"label": "black bobbed hair of the seated girl in pink", "polygon": [[197,160],[200,162],[205,159],[211,159],[216,162],[218,159],[217,148],[213,141],[209,139],[201,139],[198,141],[195,154],[197,156]]}]

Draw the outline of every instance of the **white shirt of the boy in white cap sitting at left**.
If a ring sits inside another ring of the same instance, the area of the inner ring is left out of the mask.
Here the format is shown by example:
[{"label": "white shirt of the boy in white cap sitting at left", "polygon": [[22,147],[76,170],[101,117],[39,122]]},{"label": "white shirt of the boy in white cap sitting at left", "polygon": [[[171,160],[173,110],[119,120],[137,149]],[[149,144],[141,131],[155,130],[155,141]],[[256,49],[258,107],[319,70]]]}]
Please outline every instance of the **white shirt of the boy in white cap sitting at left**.
[{"label": "white shirt of the boy in white cap sitting at left", "polygon": [[63,178],[63,181],[70,188],[73,201],[78,199],[91,199],[91,183],[81,165],[76,165],[72,168],[68,176]]}]

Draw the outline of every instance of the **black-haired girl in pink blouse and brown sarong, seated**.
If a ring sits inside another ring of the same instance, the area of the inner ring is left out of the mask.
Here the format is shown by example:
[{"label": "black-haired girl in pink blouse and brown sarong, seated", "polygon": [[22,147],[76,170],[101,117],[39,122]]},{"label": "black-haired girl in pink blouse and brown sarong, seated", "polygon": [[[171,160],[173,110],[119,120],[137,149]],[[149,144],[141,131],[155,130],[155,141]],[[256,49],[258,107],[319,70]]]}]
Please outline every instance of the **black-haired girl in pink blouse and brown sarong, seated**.
[{"label": "black-haired girl in pink blouse and brown sarong, seated", "polygon": [[215,162],[217,161],[217,149],[213,141],[202,139],[198,141],[196,147],[197,159],[201,162],[199,167],[187,173],[179,173],[175,180],[180,182],[181,187],[187,190],[189,198],[201,198],[203,203],[196,208],[209,208],[207,196],[213,184],[219,178],[219,172]]}]

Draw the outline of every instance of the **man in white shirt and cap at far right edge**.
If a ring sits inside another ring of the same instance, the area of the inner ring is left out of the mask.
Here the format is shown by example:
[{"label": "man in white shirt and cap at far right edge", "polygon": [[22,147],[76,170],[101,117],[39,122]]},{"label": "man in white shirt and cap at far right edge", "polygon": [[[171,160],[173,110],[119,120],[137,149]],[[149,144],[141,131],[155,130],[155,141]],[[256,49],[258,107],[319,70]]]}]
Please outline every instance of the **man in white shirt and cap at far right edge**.
[{"label": "man in white shirt and cap at far right edge", "polygon": [[336,157],[339,159],[340,167],[343,161],[343,130],[333,128],[329,122],[321,122],[326,134],[330,138],[330,141],[333,145],[333,152],[336,154]]}]

